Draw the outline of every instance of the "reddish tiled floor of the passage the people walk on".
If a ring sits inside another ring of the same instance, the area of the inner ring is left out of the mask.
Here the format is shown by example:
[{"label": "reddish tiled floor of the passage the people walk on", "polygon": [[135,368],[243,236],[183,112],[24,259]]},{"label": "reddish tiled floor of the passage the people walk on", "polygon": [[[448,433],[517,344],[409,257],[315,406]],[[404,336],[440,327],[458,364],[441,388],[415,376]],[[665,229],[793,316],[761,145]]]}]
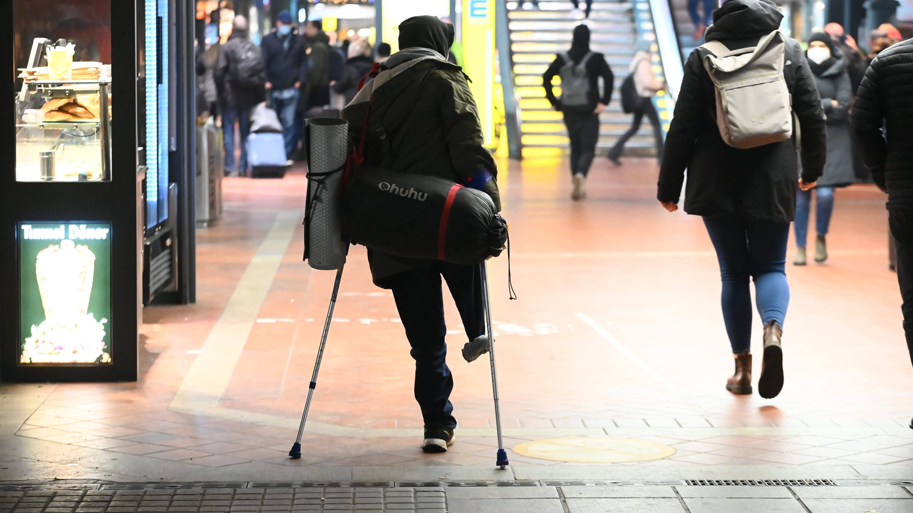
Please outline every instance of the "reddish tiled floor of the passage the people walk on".
[{"label": "reddish tiled floor of the passage the people walk on", "polygon": [[[732,363],[716,257],[699,219],[656,205],[656,165],[597,159],[589,198],[576,204],[563,165],[501,168],[518,300],[508,300],[507,259],[488,266],[508,447],[608,436],[676,450],[600,467],[609,474],[712,466],[852,476],[878,466],[913,475],[913,372],[887,270],[883,194],[839,190],[831,259],[787,269],[786,386],[767,401],[723,389]],[[226,181],[225,218],[198,232],[197,304],[144,311],[140,382],[0,385],[0,479],[490,468],[497,442],[485,359],[449,360],[456,445],[446,455],[416,448],[413,363],[362,247],[342,278],[304,457],[287,456],[333,279],[301,262],[305,186],[301,173]],[[459,347],[450,304],[447,319]],[[577,472],[509,455],[515,469],[541,467],[542,476]]]}]

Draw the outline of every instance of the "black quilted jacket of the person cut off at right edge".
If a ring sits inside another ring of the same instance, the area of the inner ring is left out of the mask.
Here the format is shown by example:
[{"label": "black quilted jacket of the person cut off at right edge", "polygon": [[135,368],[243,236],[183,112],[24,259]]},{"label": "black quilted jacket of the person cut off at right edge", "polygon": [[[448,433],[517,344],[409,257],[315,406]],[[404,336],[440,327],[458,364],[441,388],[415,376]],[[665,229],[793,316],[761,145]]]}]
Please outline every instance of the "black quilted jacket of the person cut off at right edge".
[{"label": "black quilted jacket of the person cut off at right edge", "polygon": [[887,191],[887,208],[913,209],[913,39],[872,61],[850,126],[872,178]]}]

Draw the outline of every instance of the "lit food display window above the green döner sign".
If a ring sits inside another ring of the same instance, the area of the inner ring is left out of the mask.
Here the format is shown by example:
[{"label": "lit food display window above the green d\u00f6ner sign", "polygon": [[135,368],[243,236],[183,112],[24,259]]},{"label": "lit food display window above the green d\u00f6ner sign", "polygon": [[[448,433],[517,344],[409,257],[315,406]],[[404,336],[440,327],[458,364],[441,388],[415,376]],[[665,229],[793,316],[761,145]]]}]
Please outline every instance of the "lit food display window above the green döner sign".
[{"label": "lit food display window above the green d\u00f6ner sign", "polygon": [[16,180],[110,180],[110,0],[12,0]]}]

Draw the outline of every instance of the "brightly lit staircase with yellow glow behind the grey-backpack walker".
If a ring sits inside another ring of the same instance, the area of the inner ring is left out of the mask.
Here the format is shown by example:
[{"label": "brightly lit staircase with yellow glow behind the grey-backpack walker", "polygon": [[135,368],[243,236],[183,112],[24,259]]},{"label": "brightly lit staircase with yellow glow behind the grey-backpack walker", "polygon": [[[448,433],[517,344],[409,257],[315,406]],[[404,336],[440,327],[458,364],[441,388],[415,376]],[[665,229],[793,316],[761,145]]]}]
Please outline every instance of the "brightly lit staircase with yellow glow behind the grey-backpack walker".
[{"label": "brightly lit staircase with yellow glow behind the grey-backpack walker", "polygon": [[[585,2],[581,0],[581,7]],[[531,9],[527,0],[523,10],[517,2],[507,3],[509,12],[510,46],[516,90],[519,95],[520,136],[523,156],[553,156],[568,148],[567,131],[561,112],[551,108],[542,89],[542,73],[554,60],[555,54],[571,47],[574,26],[580,20],[572,19],[573,5],[568,0],[540,0],[539,9]],[[628,75],[628,65],[635,52],[635,26],[629,0],[593,0],[590,15],[590,48],[602,53],[612,68],[615,87],[612,102],[600,116],[600,137],[597,149],[604,153],[618,137],[627,131],[631,115],[621,109],[621,83]],[[561,80],[553,82],[559,86]],[[561,88],[555,88],[555,95]],[[649,120],[644,120],[640,131],[627,142],[626,155],[654,155],[653,136]]]}]

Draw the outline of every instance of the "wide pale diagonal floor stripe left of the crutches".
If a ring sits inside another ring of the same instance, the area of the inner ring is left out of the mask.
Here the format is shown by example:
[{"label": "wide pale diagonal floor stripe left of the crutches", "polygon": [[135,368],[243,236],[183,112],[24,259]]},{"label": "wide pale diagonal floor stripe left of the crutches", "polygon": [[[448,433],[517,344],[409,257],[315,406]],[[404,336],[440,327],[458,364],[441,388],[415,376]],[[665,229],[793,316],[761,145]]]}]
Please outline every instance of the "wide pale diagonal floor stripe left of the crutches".
[{"label": "wide pale diagonal floor stripe left of the crutches", "polygon": [[200,354],[184,375],[169,410],[196,414],[218,406],[300,219],[298,210],[276,214],[267,236],[209,331]]}]

